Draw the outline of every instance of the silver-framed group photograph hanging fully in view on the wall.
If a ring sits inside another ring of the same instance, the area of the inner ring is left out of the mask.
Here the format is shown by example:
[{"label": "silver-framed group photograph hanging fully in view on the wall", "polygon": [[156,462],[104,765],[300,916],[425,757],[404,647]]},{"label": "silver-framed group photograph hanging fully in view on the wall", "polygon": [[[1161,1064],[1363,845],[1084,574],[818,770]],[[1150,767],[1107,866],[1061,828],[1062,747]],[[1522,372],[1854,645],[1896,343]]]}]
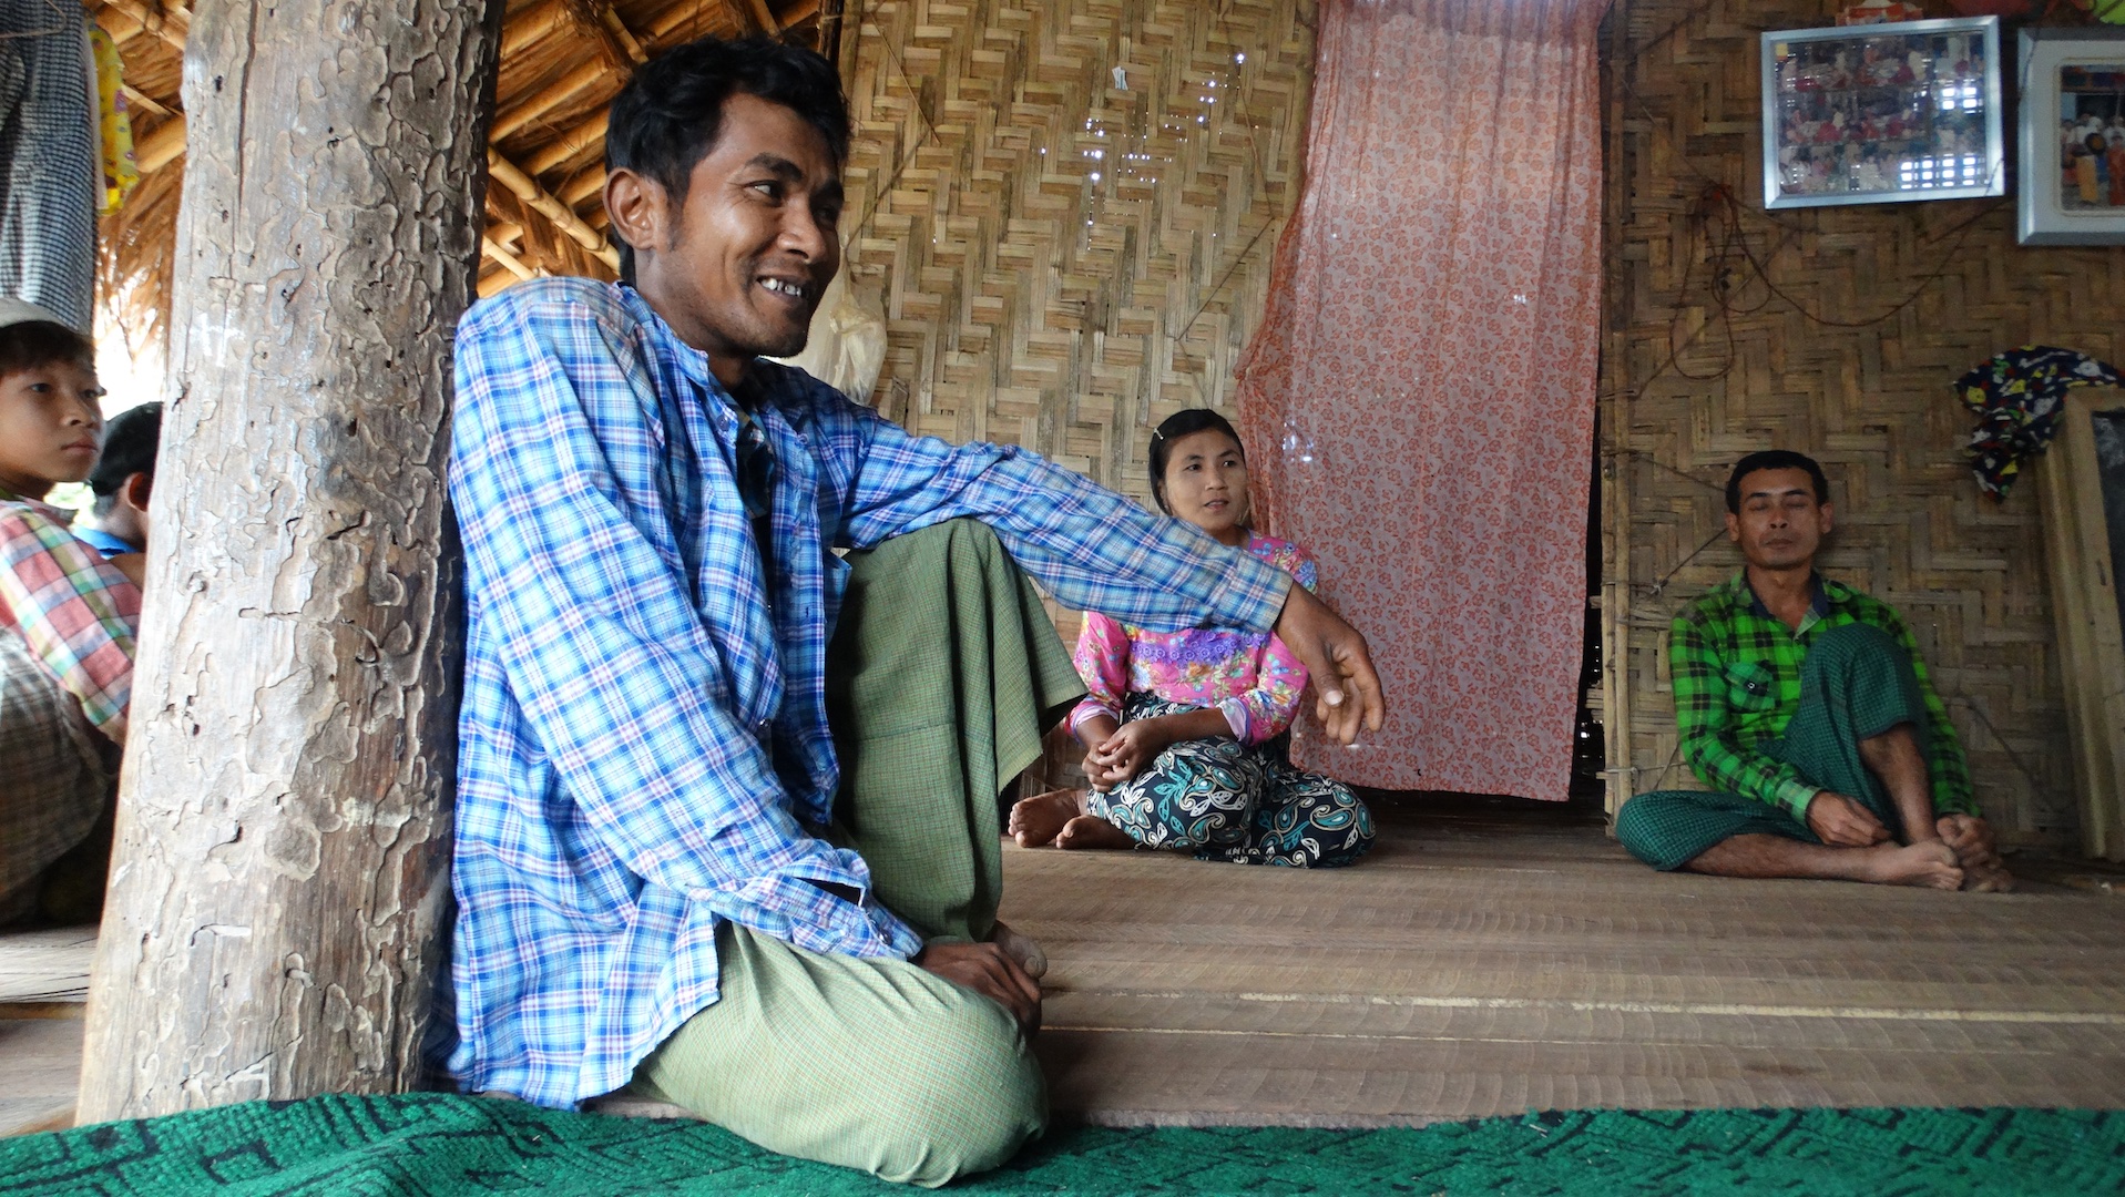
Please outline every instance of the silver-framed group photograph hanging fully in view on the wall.
[{"label": "silver-framed group photograph hanging fully in view on the wall", "polygon": [[1764,206],[2006,193],[2000,17],[1764,34]]}]

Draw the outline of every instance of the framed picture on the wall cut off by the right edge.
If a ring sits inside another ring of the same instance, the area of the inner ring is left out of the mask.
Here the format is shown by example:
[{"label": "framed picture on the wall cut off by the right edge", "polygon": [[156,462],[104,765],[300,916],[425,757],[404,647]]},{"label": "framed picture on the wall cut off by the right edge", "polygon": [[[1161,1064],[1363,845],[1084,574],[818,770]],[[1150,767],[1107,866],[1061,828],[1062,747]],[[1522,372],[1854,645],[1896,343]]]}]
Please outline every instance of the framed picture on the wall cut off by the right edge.
[{"label": "framed picture on the wall cut off by the right edge", "polygon": [[2021,32],[2021,245],[2125,245],[2125,30]]}]

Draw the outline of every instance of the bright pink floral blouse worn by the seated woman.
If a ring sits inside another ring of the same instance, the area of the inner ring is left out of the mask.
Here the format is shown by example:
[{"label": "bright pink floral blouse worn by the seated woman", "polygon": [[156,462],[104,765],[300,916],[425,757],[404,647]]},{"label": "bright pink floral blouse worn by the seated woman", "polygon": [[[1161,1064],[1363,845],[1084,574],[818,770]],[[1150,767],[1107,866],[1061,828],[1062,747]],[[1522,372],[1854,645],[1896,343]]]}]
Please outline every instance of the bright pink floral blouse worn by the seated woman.
[{"label": "bright pink floral blouse worn by the seated woman", "polygon": [[[1290,540],[1254,532],[1247,553],[1309,591],[1320,587],[1313,555]],[[1088,610],[1073,659],[1092,693],[1071,710],[1071,731],[1099,714],[1122,723],[1122,697],[1150,691],[1167,702],[1216,706],[1241,744],[1262,744],[1292,725],[1307,689],[1307,668],[1284,640],[1264,631],[1145,631]]]}]

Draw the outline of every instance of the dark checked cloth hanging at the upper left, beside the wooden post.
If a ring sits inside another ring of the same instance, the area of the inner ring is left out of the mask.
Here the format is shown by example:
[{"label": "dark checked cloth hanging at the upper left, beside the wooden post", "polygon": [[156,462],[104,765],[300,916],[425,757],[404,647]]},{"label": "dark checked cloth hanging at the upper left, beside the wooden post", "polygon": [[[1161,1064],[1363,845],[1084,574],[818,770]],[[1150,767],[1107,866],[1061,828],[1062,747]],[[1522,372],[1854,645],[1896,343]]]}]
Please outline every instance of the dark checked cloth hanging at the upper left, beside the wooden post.
[{"label": "dark checked cloth hanging at the upper left, beside the wooden post", "polygon": [[0,0],[0,296],[89,332],[102,196],[87,19]]}]

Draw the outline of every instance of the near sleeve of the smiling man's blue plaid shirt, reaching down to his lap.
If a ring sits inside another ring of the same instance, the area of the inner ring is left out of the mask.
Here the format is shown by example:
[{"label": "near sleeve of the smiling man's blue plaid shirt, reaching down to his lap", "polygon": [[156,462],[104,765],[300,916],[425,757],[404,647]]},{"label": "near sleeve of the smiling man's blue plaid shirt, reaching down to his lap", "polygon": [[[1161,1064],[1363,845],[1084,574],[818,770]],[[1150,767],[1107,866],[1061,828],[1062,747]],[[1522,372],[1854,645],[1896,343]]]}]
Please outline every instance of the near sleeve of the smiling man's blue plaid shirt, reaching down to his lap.
[{"label": "near sleeve of the smiling man's blue plaid shirt, reaching down to his lap", "polygon": [[[572,381],[544,332],[487,323],[459,344],[453,493],[468,593],[497,625],[510,689],[570,797],[629,870],[718,916],[820,952],[914,955],[920,938],[869,899],[863,859],[797,823],[735,714],[684,563],[659,551],[644,527],[654,517],[606,468],[606,429],[576,387],[625,389],[627,374]],[[654,436],[654,395],[633,410]]]}]

